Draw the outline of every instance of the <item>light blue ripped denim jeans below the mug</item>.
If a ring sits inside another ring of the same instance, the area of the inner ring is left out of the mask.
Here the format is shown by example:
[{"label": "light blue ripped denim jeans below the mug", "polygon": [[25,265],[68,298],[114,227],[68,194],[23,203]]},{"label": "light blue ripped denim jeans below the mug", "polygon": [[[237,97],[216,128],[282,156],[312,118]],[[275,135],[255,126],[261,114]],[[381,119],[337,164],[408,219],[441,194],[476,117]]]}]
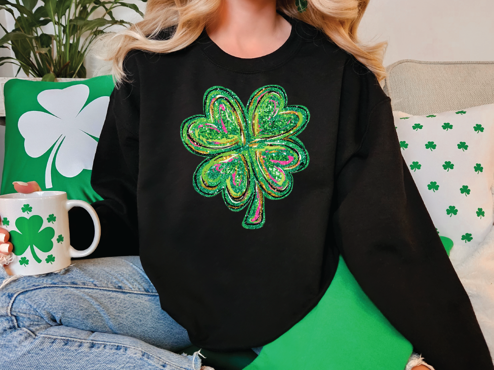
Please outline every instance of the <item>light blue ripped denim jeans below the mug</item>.
[{"label": "light blue ripped denim jeans below the mug", "polygon": [[[0,289],[0,368],[199,370],[138,257],[73,261]],[[0,267],[0,284],[7,278]]]}]

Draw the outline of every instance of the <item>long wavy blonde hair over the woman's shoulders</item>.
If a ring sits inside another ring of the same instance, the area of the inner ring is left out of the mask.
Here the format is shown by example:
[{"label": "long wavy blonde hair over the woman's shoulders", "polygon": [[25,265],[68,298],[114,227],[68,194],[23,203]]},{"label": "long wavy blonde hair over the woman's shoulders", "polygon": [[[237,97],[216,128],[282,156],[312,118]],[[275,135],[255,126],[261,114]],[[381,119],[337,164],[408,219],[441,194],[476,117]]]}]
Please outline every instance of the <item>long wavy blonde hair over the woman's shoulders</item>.
[{"label": "long wavy blonde hair over the woman's shoulders", "polygon": [[[295,0],[277,0],[278,10],[300,19],[324,32],[332,42],[352,54],[382,80],[385,42],[366,44],[357,38],[357,29],[370,0],[307,0],[307,8],[299,12]],[[131,50],[170,53],[185,48],[196,40],[222,0],[148,0],[144,19],[128,29],[106,34],[100,39],[104,59],[112,62],[117,82],[125,79],[124,58]],[[166,40],[156,39],[165,28],[175,32]]]}]

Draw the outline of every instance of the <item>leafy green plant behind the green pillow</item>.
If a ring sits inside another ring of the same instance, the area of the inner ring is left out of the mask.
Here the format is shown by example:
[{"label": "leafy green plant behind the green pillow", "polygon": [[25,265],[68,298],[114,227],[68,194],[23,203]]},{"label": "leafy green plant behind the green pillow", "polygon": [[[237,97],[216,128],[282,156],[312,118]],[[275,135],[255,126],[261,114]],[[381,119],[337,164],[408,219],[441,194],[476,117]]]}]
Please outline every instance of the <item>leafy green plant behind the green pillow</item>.
[{"label": "leafy green plant behind the green pillow", "polygon": [[[27,76],[43,81],[56,78],[85,78],[83,62],[91,43],[115,25],[129,22],[115,19],[113,10],[127,7],[139,15],[137,5],[122,0],[0,0],[0,9],[15,19],[15,28],[5,35],[0,47],[11,48],[15,57],[1,57],[0,66],[12,63]],[[146,1],[146,0],[142,0]],[[14,9],[19,13],[16,17]],[[101,14],[102,13],[102,14]],[[46,30],[50,30],[51,33]]]}]

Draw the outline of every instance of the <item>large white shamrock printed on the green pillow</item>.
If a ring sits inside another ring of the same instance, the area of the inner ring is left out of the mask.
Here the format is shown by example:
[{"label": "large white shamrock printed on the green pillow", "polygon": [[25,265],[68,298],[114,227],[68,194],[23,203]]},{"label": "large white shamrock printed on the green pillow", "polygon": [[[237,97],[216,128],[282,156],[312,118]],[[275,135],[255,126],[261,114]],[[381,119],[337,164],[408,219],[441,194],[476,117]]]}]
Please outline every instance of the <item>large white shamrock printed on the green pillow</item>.
[{"label": "large white shamrock printed on the green pillow", "polygon": [[110,98],[102,96],[83,109],[89,96],[86,85],[65,89],[44,90],[38,102],[49,113],[28,111],[19,118],[19,132],[24,137],[26,153],[37,158],[51,148],[45,172],[45,186],[52,187],[53,158],[58,172],[65,177],[91,170],[97,141],[108,109]]}]

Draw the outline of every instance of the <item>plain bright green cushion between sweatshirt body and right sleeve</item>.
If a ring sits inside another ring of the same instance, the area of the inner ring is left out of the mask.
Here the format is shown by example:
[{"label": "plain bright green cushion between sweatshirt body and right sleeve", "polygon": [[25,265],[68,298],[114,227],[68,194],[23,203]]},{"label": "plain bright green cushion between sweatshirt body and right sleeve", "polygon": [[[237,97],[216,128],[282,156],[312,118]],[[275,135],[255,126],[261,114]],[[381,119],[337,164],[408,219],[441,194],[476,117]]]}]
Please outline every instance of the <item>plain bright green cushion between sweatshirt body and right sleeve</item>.
[{"label": "plain bright green cushion between sweatshirt body and right sleeve", "polygon": [[246,370],[403,370],[412,344],[365,295],[345,261],[318,305]]}]

